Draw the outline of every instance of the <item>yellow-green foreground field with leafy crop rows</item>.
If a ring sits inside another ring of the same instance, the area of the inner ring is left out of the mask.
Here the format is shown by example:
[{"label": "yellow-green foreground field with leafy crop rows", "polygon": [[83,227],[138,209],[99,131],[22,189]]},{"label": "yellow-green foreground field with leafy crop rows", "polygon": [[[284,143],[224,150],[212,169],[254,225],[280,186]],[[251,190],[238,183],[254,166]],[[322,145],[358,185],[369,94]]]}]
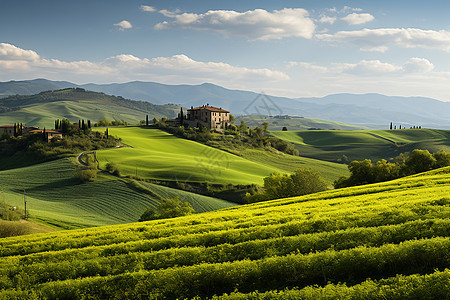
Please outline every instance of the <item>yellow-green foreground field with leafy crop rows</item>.
[{"label": "yellow-green foreground field with leafy crop rows", "polygon": [[445,299],[449,195],[445,168],[202,215],[7,238],[0,298]]}]

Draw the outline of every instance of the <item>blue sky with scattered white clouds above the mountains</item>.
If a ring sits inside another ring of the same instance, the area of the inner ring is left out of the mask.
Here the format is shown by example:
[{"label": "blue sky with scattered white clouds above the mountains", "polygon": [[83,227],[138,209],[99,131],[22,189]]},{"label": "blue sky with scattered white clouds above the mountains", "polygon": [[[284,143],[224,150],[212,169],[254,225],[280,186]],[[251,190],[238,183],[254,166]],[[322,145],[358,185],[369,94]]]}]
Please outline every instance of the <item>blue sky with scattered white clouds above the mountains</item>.
[{"label": "blue sky with scattered white clouds above the mountains", "polygon": [[0,81],[450,101],[450,1],[0,0]]}]

